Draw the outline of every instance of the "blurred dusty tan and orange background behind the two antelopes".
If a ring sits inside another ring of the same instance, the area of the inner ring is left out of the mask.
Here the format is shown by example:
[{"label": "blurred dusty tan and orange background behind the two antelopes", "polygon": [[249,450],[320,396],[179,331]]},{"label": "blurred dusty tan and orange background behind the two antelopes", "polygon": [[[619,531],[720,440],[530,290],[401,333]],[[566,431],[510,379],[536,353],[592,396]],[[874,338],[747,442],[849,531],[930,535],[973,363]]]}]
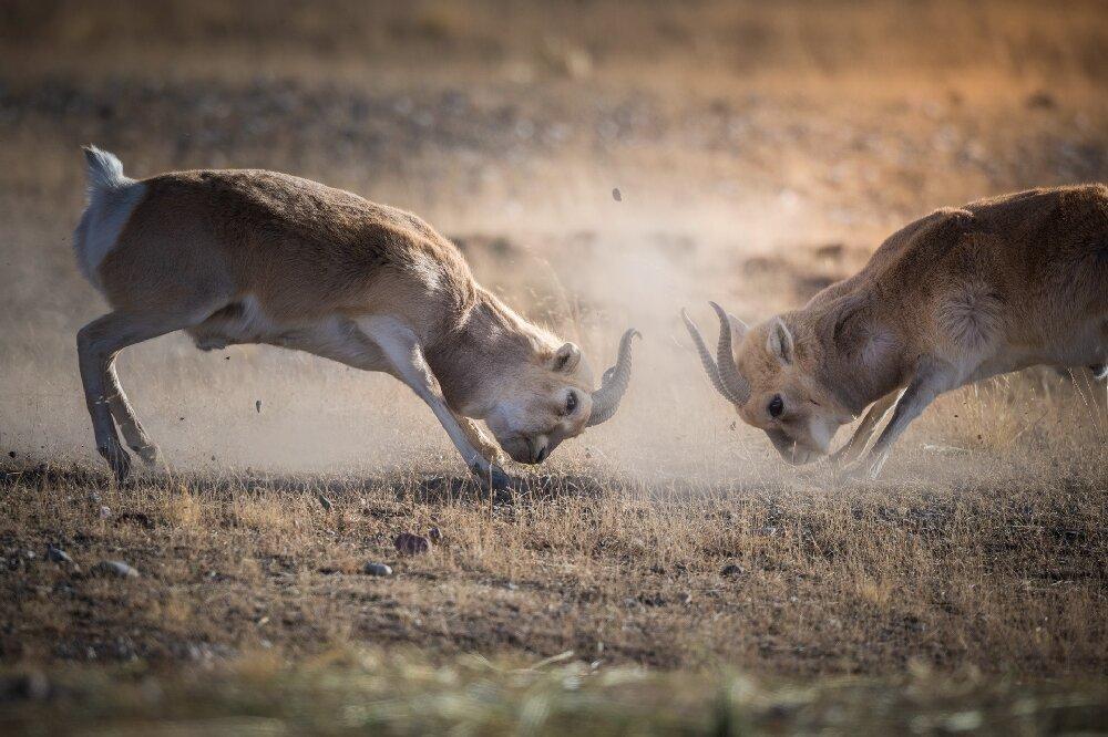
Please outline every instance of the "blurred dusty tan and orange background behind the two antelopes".
[{"label": "blurred dusty tan and orange background behind the two antelopes", "polygon": [[[706,300],[748,321],[802,304],[936,207],[1108,179],[1106,92],[1097,0],[4,0],[0,450],[95,457],[73,344],[106,308],[70,246],[81,144],[134,177],[279,169],[421,215],[594,365],[646,335],[620,415],[555,469],[742,478],[780,463],[711,394],[678,309],[714,334]],[[120,373],[182,466],[460,470],[386,376],[181,335]],[[935,467],[926,446],[1007,467],[1102,445],[1086,394],[1044,373],[967,390],[889,470]]]}]

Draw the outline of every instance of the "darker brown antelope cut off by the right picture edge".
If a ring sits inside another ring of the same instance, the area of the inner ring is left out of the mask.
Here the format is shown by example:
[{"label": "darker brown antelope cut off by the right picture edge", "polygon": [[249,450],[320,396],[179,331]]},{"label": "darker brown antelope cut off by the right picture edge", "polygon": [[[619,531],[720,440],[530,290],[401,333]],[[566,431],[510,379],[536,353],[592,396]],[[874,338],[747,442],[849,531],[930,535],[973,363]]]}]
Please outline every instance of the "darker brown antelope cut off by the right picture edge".
[{"label": "darker brown antelope cut off by the right picture edge", "polygon": [[1108,377],[1108,187],[936,210],[890,236],[859,273],[752,328],[711,307],[715,360],[681,318],[739,416],[800,465],[827,456],[837,429],[869,406],[831,458],[847,476],[876,478],[896,438],[944,392],[1036,364]]}]

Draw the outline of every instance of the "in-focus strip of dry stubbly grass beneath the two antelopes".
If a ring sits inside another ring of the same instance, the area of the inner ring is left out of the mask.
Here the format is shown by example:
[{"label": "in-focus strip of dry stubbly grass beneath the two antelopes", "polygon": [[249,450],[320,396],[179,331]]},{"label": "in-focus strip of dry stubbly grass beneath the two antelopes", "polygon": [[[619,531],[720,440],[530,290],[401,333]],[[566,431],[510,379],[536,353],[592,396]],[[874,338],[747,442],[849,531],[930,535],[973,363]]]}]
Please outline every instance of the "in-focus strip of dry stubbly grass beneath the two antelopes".
[{"label": "in-focus strip of dry stubbly grass beneath the two antelopes", "polygon": [[[1102,468],[851,488],[589,474],[500,499],[450,479],[182,476],[116,490],[11,468],[0,643],[47,661],[372,642],[769,673],[1095,673],[1108,665]],[[442,544],[398,557],[396,534],[432,526]],[[44,560],[48,542],[80,570]],[[92,573],[120,557],[142,578]],[[397,574],[363,575],[369,561]]]}]

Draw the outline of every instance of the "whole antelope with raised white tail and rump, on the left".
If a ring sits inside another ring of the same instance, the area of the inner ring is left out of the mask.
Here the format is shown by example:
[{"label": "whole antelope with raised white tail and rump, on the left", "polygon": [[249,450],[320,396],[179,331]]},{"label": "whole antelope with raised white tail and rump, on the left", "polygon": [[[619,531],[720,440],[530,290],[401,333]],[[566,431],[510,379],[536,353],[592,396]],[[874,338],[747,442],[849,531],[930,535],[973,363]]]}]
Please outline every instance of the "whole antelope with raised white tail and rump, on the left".
[{"label": "whole antelope with raised white tail and rump, on the left", "polygon": [[391,374],[434,413],[465,464],[502,488],[496,445],[538,464],[609,419],[630,381],[628,330],[594,391],[581,350],[516,314],[462,253],[410,212],[260,169],[135,180],[84,148],[78,264],[111,312],[78,332],[96,449],[122,481],[133,451],[160,461],[120,385],[115,356],[185,331],[201,350],[263,343]]}]

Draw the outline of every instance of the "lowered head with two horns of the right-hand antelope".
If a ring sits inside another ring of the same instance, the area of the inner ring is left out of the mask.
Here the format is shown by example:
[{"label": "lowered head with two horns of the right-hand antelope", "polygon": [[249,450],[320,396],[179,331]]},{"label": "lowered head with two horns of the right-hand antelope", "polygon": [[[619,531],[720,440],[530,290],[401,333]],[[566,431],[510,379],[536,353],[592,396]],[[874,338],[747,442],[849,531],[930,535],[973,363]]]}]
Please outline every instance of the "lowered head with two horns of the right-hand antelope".
[{"label": "lowered head with two horns of the right-hand antelope", "polygon": [[787,463],[799,466],[825,456],[835,430],[853,416],[814,380],[811,353],[780,316],[748,328],[710,304],[719,316],[715,359],[685,310],[681,319],[711,385],[745,423],[766,432]]}]

